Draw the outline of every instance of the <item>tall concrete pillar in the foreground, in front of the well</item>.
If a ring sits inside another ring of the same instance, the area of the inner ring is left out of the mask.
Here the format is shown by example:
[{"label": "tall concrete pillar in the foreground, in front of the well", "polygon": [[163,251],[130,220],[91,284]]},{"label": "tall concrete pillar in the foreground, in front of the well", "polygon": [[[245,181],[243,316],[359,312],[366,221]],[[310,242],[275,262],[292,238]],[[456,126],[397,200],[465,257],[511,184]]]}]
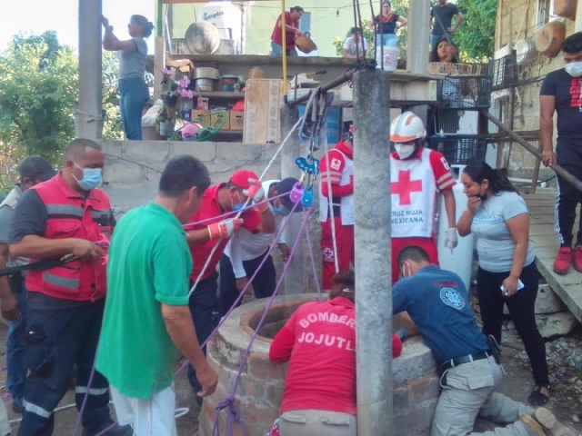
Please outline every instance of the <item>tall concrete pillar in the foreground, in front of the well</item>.
[{"label": "tall concrete pillar in the foreground, in front of the well", "polygon": [[390,74],[382,70],[359,71],[353,77],[358,436],[395,434],[391,358],[389,77]]}]

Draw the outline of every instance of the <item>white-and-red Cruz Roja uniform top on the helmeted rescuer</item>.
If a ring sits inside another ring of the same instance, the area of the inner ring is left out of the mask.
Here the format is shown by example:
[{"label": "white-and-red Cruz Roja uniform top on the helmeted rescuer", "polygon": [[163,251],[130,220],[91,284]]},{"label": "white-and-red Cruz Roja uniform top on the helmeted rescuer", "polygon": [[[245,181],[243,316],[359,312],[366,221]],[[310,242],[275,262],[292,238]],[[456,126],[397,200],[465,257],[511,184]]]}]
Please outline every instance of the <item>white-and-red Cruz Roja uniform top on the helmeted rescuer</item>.
[{"label": "white-and-red Cruz Roja uniform top on the helmeted rescuer", "polygon": [[393,238],[431,238],[437,230],[437,193],[453,189],[455,178],[443,154],[422,147],[416,157],[390,155]]}]

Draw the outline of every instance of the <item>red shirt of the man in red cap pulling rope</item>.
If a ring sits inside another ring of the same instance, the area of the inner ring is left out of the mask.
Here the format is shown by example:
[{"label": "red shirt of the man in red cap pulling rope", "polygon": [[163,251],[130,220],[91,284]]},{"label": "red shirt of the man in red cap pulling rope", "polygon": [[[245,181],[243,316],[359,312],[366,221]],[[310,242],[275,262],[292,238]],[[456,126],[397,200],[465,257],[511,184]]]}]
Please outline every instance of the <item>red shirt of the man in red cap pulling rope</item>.
[{"label": "red shirt of the man in red cap pulling rope", "polygon": [[[188,223],[197,223],[199,221],[215,217],[216,220],[212,220],[200,225],[188,226],[188,230],[206,229],[208,225],[212,223],[218,223],[225,219],[221,215],[228,211],[224,211],[218,203],[218,190],[225,184],[226,183],[216,184],[215,186],[210,186],[208,189],[206,189],[204,197],[202,198],[200,209],[192,218],[190,218]],[[262,222],[261,214],[253,209],[250,209],[244,212],[240,217],[245,220],[243,227],[251,233],[256,233],[256,227],[258,227]],[[234,218],[234,216],[229,218]],[[202,245],[190,245],[190,253],[192,254],[192,260],[194,261],[194,267],[192,268],[192,273],[190,274],[190,279],[192,279],[192,281],[196,282],[198,275],[202,271],[202,268],[204,268],[208,256],[212,252],[212,249],[215,247],[215,245],[218,243],[218,249],[216,250],[215,255],[212,256],[212,261],[208,264],[206,272],[202,276],[201,280],[206,279],[206,277],[208,277],[210,274],[216,272],[216,265],[220,261],[228,241],[228,239],[215,239],[213,241],[206,241],[206,243],[203,243]]]}]

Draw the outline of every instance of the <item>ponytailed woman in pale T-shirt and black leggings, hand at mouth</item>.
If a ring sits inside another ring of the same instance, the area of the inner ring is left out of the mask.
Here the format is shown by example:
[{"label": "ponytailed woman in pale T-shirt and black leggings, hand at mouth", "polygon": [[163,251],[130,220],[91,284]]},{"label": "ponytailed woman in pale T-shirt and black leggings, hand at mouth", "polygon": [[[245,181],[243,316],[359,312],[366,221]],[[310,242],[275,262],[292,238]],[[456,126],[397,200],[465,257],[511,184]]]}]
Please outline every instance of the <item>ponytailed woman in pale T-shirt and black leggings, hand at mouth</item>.
[{"label": "ponytailed woman in pale T-shirt and black leggings, hand at mouth", "polygon": [[457,230],[461,236],[473,233],[477,238],[477,296],[483,332],[501,342],[503,305],[507,304],[536,381],[529,402],[541,406],[547,403],[551,386],[546,344],[536,324],[539,273],[529,244],[526,202],[509,182],[505,169],[494,170],[484,162],[467,163],[461,182],[468,208],[461,215]]}]

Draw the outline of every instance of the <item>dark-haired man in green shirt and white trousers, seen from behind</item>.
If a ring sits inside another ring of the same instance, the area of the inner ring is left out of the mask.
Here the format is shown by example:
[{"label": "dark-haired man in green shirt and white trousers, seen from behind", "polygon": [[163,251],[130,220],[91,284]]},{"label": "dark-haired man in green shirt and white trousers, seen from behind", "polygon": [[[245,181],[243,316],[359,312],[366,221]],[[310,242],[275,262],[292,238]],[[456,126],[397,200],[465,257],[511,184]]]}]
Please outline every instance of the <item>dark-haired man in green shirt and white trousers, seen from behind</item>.
[{"label": "dark-haired man in green shirt and white trousers, seen from behind", "polygon": [[192,256],[182,223],[210,185],[189,155],[167,163],[153,202],[125,214],[107,261],[107,297],[96,369],[110,383],[117,419],[135,435],[176,436],[176,348],[196,368],[204,397],[218,376],[196,340],[188,308]]}]

